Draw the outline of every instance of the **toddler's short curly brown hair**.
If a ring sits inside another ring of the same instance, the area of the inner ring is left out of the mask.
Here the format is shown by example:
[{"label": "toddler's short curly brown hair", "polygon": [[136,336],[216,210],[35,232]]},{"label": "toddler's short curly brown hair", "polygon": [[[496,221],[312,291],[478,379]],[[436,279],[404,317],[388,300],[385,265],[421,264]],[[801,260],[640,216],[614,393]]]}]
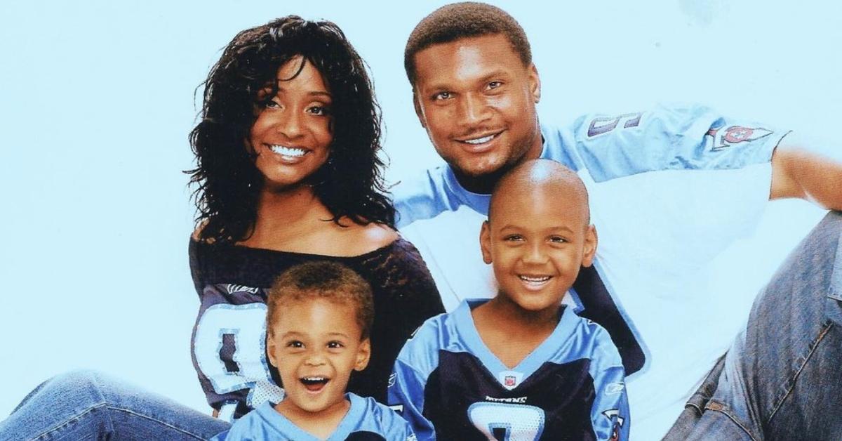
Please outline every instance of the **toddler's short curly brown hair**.
[{"label": "toddler's short curly brown hair", "polygon": [[368,282],[349,267],[332,261],[312,261],[282,272],[266,296],[267,328],[271,335],[284,305],[291,300],[324,298],[340,304],[353,303],[356,320],[368,338],[374,320],[374,300]]}]

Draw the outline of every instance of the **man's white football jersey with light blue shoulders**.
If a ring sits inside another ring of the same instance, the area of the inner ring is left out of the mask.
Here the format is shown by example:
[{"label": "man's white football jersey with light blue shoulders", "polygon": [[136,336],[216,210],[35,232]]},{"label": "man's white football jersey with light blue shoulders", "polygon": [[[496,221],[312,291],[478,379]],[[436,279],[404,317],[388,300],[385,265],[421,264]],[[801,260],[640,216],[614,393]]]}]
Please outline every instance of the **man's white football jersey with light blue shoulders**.
[{"label": "man's white football jersey with light blue shoulders", "polygon": [[[786,133],[695,105],[541,125],[541,158],[584,180],[600,239],[594,271],[580,274],[588,280],[565,302],[617,344],[635,439],[666,433],[745,320],[723,314],[733,293],[706,291],[709,265],[754,231]],[[466,191],[447,165],[393,194],[398,228],[424,257],[445,309],[497,292],[478,239],[490,196]]]}]

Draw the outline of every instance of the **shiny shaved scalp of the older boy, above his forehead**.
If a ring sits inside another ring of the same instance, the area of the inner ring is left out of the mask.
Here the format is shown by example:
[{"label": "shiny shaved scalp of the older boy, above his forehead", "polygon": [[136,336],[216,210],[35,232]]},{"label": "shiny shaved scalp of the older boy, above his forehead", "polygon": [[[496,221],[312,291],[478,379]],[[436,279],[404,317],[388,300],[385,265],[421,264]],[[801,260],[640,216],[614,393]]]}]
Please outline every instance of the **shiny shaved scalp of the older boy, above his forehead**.
[{"label": "shiny shaved scalp of the older boy, above his forehead", "polygon": [[488,222],[495,207],[509,197],[529,197],[537,191],[552,191],[559,198],[568,199],[568,209],[582,210],[584,223],[590,223],[588,190],[573,170],[550,159],[531,159],[511,169],[501,178],[488,205]]}]

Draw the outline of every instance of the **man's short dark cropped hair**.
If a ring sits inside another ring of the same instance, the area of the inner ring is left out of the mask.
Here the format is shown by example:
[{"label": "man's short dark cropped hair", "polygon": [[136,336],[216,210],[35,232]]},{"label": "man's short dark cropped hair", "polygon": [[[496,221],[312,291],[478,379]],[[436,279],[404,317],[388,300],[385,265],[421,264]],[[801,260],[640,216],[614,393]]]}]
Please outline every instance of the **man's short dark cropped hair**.
[{"label": "man's short dark cropped hair", "polygon": [[415,54],[429,46],[450,43],[469,37],[503,34],[524,66],[532,62],[532,50],[520,24],[496,6],[486,3],[453,3],[438,8],[424,17],[409,35],[403,51],[403,67],[409,83],[415,87]]}]

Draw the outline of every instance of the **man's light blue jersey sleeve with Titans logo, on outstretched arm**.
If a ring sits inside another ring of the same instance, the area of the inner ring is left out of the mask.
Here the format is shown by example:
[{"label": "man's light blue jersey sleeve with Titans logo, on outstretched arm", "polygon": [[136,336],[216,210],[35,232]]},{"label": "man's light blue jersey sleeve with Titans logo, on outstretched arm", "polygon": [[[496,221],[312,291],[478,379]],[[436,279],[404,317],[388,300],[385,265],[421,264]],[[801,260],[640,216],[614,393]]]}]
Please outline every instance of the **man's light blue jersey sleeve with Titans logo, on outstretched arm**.
[{"label": "man's light blue jersey sleeve with Titans logo, on outstretched arm", "polygon": [[658,106],[581,116],[561,135],[568,137],[561,143],[575,146],[564,155],[574,168],[584,167],[602,182],[647,171],[740,169],[769,162],[786,133],[704,106]]}]

